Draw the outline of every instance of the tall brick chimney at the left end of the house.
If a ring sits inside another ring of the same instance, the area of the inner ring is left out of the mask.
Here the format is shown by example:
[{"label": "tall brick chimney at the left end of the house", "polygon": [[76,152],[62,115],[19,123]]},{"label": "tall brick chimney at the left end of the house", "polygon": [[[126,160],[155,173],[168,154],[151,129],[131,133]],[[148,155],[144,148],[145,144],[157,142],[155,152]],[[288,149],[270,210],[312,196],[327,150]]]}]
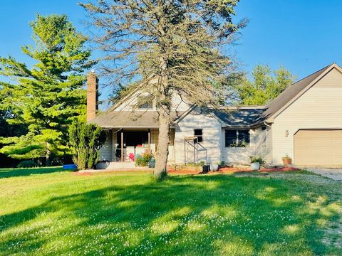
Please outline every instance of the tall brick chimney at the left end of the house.
[{"label": "tall brick chimney at the left end of the house", "polygon": [[94,119],[98,111],[98,77],[95,71],[87,75],[87,122]]}]

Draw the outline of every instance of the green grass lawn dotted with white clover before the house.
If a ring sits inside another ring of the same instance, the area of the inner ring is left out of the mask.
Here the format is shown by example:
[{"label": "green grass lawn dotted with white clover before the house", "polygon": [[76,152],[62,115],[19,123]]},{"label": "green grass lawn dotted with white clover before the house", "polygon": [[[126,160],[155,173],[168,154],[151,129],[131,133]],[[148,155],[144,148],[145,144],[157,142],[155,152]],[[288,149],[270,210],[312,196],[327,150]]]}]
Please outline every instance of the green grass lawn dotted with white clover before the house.
[{"label": "green grass lawn dotted with white clover before the house", "polygon": [[0,255],[342,255],[342,184],[306,172],[0,169]]}]

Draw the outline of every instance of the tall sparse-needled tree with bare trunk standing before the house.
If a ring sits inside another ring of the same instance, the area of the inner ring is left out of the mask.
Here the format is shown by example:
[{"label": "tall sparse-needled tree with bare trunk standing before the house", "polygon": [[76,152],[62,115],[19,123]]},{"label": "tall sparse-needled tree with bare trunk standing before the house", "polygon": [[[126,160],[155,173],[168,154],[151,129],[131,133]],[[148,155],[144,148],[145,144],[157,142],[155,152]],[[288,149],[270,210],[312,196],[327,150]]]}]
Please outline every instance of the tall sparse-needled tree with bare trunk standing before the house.
[{"label": "tall sparse-needled tree with bare trunk standing before the house", "polygon": [[98,28],[103,75],[113,85],[140,79],[159,111],[155,176],[166,173],[172,94],[217,107],[234,70],[222,48],[244,21],[232,22],[238,0],[115,0],[82,4]]}]

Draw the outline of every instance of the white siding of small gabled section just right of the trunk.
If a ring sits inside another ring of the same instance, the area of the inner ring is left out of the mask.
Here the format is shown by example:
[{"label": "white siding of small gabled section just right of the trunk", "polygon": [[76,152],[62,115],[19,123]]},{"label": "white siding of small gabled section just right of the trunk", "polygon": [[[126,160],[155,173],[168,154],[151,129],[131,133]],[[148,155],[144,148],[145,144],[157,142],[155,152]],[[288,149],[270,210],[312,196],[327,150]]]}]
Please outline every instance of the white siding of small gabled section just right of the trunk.
[{"label": "white siding of small gabled section just right of the trunk", "polygon": [[[216,164],[221,161],[221,124],[211,115],[192,111],[182,119],[175,129],[175,162],[185,163],[185,138],[194,136],[194,129],[202,129],[203,142],[207,149],[208,162]],[[194,162],[193,148],[188,146],[188,161]],[[197,159],[196,159],[197,160]],[[199,151],[198,161],[206,161],[205,151]]]}]

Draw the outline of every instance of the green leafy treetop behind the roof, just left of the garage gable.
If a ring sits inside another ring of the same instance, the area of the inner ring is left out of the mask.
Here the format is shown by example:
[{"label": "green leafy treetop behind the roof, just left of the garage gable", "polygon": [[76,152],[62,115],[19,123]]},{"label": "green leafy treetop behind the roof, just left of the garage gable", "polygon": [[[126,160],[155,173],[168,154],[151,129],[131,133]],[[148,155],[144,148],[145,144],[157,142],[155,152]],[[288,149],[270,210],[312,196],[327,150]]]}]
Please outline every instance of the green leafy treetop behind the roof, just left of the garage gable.
[{"label": "green leafy treetop behind the roof, just left of the garage gable", "polygon": [[252,81],[244,77],[242,82],[234,86],[239,105],[266,105],[295,79],[286,68],[280,67],[272,71],[268,65],[257,65],[252,76]]}]

